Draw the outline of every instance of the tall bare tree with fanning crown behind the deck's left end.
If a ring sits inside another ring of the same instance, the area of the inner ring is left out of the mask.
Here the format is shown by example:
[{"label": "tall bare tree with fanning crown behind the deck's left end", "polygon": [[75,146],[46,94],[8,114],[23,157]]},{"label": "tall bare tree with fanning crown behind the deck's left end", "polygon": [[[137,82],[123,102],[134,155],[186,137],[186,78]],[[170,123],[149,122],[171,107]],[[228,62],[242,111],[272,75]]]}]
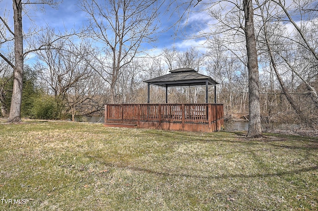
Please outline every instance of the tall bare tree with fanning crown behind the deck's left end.
[{"label": "tall bare tree with fanning crown behind the deck's left end", "polygon": [[[102,45],[96,71],[109,84],[111,102],[117,101],[116,83],[123,68],[140,53],[143,43],[156,41],[157,0],[81,0],[89,17],[89,36]],[[107,59],[105,59],[105,55]]]}]

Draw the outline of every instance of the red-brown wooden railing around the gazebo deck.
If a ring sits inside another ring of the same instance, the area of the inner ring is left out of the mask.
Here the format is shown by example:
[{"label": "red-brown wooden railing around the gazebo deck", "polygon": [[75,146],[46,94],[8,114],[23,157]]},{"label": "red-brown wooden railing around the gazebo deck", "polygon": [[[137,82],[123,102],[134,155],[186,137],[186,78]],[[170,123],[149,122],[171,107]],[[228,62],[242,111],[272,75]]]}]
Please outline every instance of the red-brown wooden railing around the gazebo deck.
[{"label": "red-brown wooden railing around the gazebo deck", "polygon": [[105,105],[105,123],[140,121],[206,123],[223,119],[223,104],[121,104]]}]

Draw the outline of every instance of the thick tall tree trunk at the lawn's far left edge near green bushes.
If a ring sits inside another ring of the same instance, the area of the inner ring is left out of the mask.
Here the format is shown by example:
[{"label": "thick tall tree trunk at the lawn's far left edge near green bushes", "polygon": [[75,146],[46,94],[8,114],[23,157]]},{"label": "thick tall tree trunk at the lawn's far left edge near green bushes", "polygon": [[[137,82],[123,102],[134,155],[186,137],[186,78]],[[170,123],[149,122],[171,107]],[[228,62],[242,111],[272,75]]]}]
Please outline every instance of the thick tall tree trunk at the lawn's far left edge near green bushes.
[{"label": "thick tall tree trunk at the lawn's far left edge near green bushes", "polygon": [[20,122],[23,78],[22,0],[13,0],[14,59],[13,90],[8,122]]}]

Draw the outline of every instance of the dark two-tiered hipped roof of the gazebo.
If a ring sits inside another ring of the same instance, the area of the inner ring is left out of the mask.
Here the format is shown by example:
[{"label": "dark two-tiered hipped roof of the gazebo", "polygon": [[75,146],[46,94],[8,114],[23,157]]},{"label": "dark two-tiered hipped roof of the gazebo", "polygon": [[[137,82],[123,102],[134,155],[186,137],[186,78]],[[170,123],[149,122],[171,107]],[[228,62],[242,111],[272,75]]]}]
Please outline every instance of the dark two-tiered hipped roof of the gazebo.
[{"label": "dark two-tiered hipped roof of the gazebo", "polygon": [[161,87],[206,86],[219,84],[210,76],[202,75],[192,68],[171,70],[169,74],[144,81]]}]

